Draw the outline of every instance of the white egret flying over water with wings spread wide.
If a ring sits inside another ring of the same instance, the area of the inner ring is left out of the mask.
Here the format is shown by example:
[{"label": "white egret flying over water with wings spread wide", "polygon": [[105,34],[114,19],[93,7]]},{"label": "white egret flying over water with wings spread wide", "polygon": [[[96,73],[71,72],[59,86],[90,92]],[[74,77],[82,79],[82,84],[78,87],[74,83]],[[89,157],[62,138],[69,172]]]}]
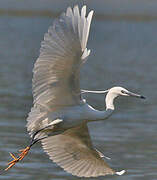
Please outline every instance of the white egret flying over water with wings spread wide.
[{"label": "white egret flying over water with wings spread wide", "polygon": [[[107,91],[80,90],[80,67],[87,60],[86,48],[93,11],[86,16],[86,6],[67,8],[48,29],[41,43],[40,56],[33,70],[34,106],[28,116],[30,146],[9,163],[8,170],[22,160],[31,146],[41,141],[50,159],[65,171],[79,177],[122,175],[111,169],[103,155],[92,146],[87,123],[107,119],[114,111],[118,96],[144,98],[122,87]],[[82,93],[105,93],[106,110],[86,103]]]}]

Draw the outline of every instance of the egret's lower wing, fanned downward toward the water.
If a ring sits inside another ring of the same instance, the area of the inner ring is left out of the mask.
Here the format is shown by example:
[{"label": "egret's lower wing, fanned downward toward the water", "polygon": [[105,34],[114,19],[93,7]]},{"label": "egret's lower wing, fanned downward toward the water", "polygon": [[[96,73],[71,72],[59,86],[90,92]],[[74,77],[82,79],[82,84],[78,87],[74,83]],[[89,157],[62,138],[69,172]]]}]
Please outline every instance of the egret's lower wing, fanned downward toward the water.
[{"label": "egret's lower wing, fanned downward toward the water", "polygon": [[81,125],[42,140],[50,159],[65,171],[79,177],[116,174],[93,147],[87,125]]}]

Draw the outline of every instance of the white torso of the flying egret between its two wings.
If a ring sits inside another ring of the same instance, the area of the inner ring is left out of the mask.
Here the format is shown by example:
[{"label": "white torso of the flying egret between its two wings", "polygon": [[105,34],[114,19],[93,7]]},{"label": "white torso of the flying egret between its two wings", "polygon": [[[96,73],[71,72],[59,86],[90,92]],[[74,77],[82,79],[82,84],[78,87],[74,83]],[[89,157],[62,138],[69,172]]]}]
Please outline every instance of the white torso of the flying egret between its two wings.
[{"label": "white torso of the flying egret between its two wings", "polygon": [[48,114],[48,119],[50,120],[48,124],[56,119],[63,119],[63,122],[58,124],[59,127],[62,129],[69,129],[82,123],[104,120],[109,116],[110,113],[112,113],[112,110],[99,111],[94,109],[89,104],[84,103],[82,105],[65,107],[62,110],[50,112]]}]

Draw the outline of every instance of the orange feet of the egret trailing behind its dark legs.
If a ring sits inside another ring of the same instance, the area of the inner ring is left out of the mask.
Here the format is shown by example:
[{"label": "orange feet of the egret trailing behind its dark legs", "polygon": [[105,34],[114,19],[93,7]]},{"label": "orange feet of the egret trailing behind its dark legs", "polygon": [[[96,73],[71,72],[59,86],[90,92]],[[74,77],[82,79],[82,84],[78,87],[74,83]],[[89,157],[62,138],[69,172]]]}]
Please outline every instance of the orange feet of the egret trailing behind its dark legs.
[{"label": "orange feet of the egret trailing behind its dark legs", "polygon": [[15,157],[14,154],[10,153],[10,156],[13,158],[13,160],[8,163],[8,167],[5,169],[5,171],[12,168],[17,162],[21,161],[28,154],[29,150],[29,146],[27,146],[25,149],[19,150],[21,152],[19,157]]}]

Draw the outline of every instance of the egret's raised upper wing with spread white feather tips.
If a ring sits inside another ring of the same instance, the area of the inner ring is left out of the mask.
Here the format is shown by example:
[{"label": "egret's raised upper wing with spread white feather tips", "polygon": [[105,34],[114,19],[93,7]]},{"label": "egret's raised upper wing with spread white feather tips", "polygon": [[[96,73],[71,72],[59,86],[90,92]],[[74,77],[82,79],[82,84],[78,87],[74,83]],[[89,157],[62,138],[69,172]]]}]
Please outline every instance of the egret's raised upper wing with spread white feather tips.
[{"label": "egret's raised upper wing with spread white feather tips", "polygon": [[70,7],[55,20],[41,43],[34,66],[34,104],[48,110],[80,104],[80,66],[90,54],[86,44],[93,11],[86,17],[86,6]]}]

